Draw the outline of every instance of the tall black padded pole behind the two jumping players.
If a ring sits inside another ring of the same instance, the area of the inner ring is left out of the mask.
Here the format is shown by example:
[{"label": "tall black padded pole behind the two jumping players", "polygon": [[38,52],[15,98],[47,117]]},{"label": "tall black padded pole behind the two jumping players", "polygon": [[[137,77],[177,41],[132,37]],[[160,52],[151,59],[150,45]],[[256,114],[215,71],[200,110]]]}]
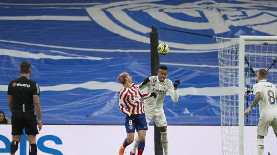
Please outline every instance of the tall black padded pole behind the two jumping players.
[{"label": "tall black padded pole behind the two jumping players", "polygon": [[[152,32],[150,33],[150,48],[151,48],[151,76],[156,76],[160,64],[160,57],[157,52],[157,47],[159,45],[157,28],[152,26]],[[154,122],[154,146],[155,155],[163,155],[163,148],[161,143],[161,134],[159,128]]]}]

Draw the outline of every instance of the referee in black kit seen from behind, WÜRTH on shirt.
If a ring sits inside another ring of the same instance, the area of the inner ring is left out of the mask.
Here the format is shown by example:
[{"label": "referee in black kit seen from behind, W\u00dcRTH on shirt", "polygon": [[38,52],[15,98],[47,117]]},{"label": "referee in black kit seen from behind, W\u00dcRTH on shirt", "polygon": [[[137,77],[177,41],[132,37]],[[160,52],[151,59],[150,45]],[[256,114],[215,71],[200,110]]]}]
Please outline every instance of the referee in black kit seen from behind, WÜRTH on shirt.
[{"label": "referee in black kit seen from behind, W\u00dcRTH on shirt", "polygon": [[[8,102],[12,112],[13,140],[10,145],[11,155],[15,155],[18,149],[23,128],[25,128],[28,135],[29,155],[36,155],[35,137],[38,134],[36,125],[38,125],[39,130],[42,127],[39,87],[35,81],[29,78],[31,74],[31,64],[29,62],[21,62],[20,73],[21,76],[12,80],[8,87]],[[36,121],[35,111],[38,122]]]}]

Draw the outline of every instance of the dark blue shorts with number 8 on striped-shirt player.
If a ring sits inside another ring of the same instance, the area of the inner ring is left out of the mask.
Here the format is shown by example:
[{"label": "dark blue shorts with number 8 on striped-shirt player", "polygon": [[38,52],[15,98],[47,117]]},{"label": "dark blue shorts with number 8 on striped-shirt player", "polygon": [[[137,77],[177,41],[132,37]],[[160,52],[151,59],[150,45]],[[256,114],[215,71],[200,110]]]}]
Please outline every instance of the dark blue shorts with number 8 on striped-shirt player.
[{"label": "dark blue shorts with number 8 on striped-shirt player", "polygon": [[134,133],[135,130],[148,130],[146,119],[145,119],[145,114],[138,114],[135,115],[138,117],[139,123],[136,124],[135,121],[129,119],[129,117],[125,118],[125,128],[127,133]]}]

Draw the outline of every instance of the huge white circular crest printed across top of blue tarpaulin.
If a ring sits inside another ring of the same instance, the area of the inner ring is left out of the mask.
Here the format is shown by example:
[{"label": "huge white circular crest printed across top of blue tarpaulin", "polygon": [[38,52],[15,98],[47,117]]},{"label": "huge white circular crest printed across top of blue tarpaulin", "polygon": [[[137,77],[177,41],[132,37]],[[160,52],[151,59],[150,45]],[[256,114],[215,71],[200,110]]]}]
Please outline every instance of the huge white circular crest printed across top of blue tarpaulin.
[{"label": "huge white circular crest printed across top of blue tarpaulin", "polygon": [[[162,0],[113,2],[89,7],[87,12],[94,21],[108,31],[147,44],[150,42],[149,38],[139,33],[149,33],[151,28],[139,23],[139,19],[129,16],[128,13],[144,12],[148,17],[151,16],[161,23],[177,28],[199,30],[200,32],[201,30],[212,30],[215,34],[219,34],[232,31],[232,26],[241,26],[252,28],[253,31],[265,32],[269,35],[277,34],[277,29],[274,27],[277,22],[277,6],[274,1],[238,0],[226,3],[200,0],[179,5],[157,4],[155,3],[157,1]],[[176,19],[170,16],[169,13],[181,13],[195,20]],[[121,24],[117,24],[108,14]],[[205,22],[197,21],[197,18],[204,19]],[[151,20],[151,18],[144,20]],[[121,25],[124,25],[124,27]],[[241,34],[245,34],[243,29],[236,31],[235,35],[239,36]],[[160,42],[182,49],[217,49],[216,44],[180,44],[164,40],[160,40]]]}]

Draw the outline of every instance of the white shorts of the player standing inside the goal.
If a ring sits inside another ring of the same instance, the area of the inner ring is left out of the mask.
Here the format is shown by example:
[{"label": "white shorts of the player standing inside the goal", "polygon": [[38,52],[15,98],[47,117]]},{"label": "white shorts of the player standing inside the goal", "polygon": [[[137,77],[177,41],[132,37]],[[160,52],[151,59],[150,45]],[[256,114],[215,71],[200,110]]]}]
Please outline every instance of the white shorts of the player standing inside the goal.
[{"label": "white shorts of the player standing inside the goal", "polygon": [[268,118],[260,118],[258,124],[258,135],[266,136],[268,133],[269,126],[272,126],[273,131],[277,133],[277,118],[268,119]]}]

